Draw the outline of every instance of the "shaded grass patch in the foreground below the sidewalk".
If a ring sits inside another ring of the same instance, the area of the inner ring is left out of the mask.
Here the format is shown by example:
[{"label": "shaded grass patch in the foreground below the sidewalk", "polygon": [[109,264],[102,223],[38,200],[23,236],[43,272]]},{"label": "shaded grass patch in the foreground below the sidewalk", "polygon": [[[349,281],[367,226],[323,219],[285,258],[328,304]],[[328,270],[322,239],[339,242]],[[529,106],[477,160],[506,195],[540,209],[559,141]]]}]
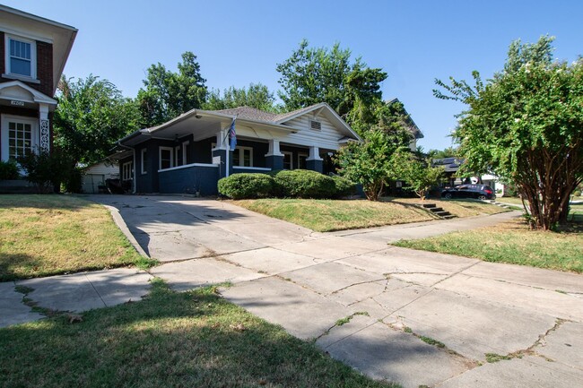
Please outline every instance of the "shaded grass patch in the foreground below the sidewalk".
[{"label": "shaded grass patch in the foreground below the sidewalk", "polygon": [[[143,301],[0,329],[0,386],[393,387],[215,293],[152,282]],[[77,318],[79,319],[79,318]]]}]

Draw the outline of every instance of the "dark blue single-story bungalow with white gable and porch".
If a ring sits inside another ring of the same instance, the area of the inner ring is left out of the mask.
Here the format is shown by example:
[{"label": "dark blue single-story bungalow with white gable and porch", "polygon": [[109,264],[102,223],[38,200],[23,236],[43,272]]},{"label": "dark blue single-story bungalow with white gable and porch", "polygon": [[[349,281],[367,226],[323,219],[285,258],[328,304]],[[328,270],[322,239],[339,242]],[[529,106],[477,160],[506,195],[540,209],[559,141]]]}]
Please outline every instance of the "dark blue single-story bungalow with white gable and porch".
[{"label": "dark blue single-story bungalow with white gable and porch", "polygon": [[[237,148],[229,151],[234,116]],[[249,107],[193,109],[127,135],[110,159],[119,161],[121,180],[131,181],[134,193],[210,195],[221,177],[240,172],[334,172],[331,157],[346,142],[361,138],[326,103],[286,114]]]}]

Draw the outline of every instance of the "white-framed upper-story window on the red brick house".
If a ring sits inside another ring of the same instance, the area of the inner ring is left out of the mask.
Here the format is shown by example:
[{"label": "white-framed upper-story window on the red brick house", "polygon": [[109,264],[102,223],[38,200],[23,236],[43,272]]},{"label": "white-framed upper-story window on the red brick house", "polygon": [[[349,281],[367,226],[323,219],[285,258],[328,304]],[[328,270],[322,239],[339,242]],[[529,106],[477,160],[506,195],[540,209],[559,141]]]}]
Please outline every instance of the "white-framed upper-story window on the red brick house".
[{"label": "white-framed upper-story window on the red brick house", "polygon": [[37,45],[34,40],[6,35],[6,73],[36,78]]}]

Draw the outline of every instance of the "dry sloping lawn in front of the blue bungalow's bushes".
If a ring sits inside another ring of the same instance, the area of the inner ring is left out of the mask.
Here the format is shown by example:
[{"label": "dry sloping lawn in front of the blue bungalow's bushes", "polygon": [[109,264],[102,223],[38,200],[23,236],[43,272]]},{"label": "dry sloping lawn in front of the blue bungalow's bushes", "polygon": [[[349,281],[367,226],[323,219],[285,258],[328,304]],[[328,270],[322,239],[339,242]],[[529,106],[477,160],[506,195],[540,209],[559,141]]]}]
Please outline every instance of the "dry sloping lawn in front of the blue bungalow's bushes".
[{"label": "dry sloping lawn in front of the blue bungalow's bushes", "polygon": [[231,203],[318,232],[435,220],[410,203],[309,199],[258,199]]}]

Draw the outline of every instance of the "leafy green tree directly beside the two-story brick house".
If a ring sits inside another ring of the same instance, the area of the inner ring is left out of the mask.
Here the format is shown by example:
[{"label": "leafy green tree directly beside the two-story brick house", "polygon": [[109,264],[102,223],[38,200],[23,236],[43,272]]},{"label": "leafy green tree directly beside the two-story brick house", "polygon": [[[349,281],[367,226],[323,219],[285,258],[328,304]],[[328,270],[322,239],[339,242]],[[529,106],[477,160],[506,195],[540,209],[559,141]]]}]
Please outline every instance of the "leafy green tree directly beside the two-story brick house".
[{"label": "leafy green tree directly beside the two-story brick house", "polygon": [[57,99],[54,145],[73,165],[103,160],[119,138],[138,128],[135,101],[92,74],[76,82],[63,75]]}]

